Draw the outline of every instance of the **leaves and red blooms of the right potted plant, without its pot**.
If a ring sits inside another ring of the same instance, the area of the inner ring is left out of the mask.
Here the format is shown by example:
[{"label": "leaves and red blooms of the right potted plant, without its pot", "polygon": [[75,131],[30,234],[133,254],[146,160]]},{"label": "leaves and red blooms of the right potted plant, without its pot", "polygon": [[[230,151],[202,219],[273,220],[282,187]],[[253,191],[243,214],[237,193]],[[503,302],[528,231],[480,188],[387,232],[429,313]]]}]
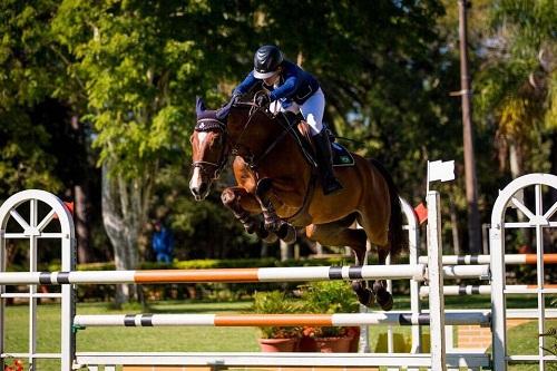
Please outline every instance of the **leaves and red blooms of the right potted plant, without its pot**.
[{"label": "leaves and red blooms of the right potted plant, without its pot", "polygon": [[[306,313],[356,313],[360,309],[350,284],[344,281],[312,282],[301,286],[301,299]],[[315,338],[339,336],[346,329],[340,326],[306,328],[304,335]]]}]

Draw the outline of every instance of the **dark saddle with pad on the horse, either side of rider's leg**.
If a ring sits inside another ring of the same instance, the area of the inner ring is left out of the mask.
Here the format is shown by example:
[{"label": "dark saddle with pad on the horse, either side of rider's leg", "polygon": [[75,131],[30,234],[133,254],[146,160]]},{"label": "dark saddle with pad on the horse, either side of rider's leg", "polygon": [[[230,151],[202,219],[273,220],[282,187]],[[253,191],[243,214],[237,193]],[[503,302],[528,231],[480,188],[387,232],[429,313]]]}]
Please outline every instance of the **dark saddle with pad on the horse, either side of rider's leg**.
[{"label": "dark saddle with pad on the horse, either side of rider's leg", "polygon": [[[317,163],[315,160],[315,147],[311,138],[310,126],[304,121],[303,116],[291,111],[281,113],[281,116],[286,125],[297,128],[297,130],[292,131],[295,135],[300,148],[302,148],[302,153],[312,166],[317,167]],[[329,128],[325,127],[325,129],[328,130],[329,140],[331,141],[333,166],[354,166],[355,162],[352,154],[343,145],[335,141],[336,138]]]}]

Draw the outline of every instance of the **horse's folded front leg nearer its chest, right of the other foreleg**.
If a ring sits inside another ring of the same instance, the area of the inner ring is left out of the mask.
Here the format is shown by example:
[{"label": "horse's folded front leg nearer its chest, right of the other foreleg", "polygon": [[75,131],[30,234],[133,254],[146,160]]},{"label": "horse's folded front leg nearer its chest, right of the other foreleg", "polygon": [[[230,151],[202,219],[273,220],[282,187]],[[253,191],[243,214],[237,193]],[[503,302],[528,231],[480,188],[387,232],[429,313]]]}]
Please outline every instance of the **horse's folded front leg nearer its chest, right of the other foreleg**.
[{"label": "horse's folded front leg nearer its chest, right of the other foreleg", "polygon": [[263,178],[257,182],[257,187],[255,189],[255,198],[260,203],[263,212],[265,230],[276,233],[278,238],[287,244],[294,243],[296,241],[296,230],[291,224],[281,219],[276,214],[270,198],[271,187],[271,178]]}]

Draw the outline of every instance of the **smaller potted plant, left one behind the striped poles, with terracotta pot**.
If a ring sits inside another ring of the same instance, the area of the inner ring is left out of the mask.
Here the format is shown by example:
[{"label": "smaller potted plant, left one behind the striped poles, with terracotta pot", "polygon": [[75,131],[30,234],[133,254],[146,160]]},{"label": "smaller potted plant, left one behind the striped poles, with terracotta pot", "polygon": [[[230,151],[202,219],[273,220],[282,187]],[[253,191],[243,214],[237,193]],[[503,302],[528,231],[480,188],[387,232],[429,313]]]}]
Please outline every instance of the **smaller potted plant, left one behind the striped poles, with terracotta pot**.
[{"label": "smaller potted plant, left one behind the striped poles, with terracotta pot", "polygon": [[[287,314],[295,312],[295,305],[280,291],[258,292],[254,295],[252,311],[261,314]],[[301,336],[301,328],[260,328],[258,339],[263,352],[293,352]]]}]

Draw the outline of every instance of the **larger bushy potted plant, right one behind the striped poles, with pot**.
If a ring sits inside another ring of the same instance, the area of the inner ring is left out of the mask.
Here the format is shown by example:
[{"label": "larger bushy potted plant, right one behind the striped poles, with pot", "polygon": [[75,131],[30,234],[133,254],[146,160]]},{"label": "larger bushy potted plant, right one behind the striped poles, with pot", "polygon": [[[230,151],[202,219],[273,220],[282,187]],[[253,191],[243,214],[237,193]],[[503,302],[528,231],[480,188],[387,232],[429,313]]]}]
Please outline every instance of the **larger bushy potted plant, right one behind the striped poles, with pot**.
[{"label": "larger bushy potted plant, right one behind the striped poles, with pot", "polygon": [[[312,282],[301,286],[301,297],[307,313],[355,313],[359,310],[352,289],[343,281]],[[299,348],[302,352],[355,352],[359,334],[358,326],[306,326]]]}]

